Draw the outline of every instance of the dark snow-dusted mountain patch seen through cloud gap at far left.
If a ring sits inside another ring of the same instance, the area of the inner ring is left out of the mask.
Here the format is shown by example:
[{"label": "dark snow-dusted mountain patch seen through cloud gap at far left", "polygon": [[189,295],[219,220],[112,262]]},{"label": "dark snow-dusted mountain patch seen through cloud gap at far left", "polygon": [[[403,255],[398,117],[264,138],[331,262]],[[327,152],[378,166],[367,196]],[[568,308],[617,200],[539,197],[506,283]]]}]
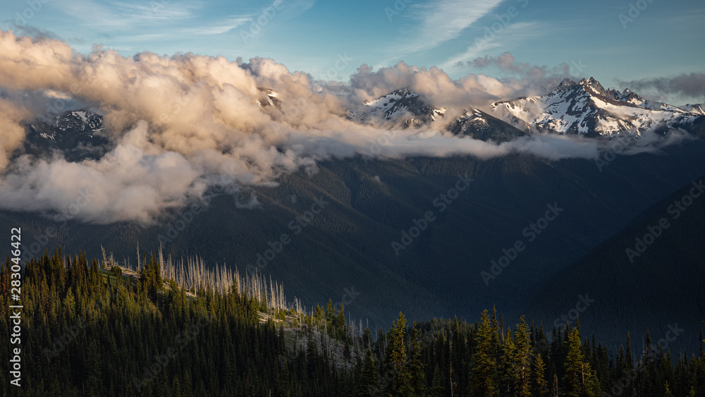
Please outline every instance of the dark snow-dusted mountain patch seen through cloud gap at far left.
[{"label": "dark snow-dusted mountain patch seen through cloud gap at far left", "polygon": [[57,150],[68,161],[99,159],[109,150],[103,117],[90,109],[67,111],[53,121],[27,125],[25,152],[44,156]]}]

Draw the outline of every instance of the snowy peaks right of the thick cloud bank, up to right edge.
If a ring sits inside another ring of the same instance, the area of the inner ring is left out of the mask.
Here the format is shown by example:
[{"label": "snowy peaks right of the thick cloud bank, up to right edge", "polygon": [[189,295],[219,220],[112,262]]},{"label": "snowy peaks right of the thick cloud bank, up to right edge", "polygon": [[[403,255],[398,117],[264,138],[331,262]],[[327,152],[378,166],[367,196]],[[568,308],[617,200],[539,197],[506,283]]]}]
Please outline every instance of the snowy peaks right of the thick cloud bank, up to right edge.
[{"label": "snowy peaks right of the thick cloud bank, up to right edge", "polygon": [[[628,88],[623,92],[605,90],[594,78],[579,83],[566,79],[548,94],[495,102],[489,114],[469,108],[460,118],[445,124],[455,134],[498,142],[532,133],[613,138],[620,134],[663,134],[673,128],[697,130],[703,123],[703,109],[702,104],[678,107],[649,101]],[[350,112],[350,118],[362,123],[387,121],[419,127],[443,118],[445,113],[446,107],[432,106],[422,94],[403,89],[365,102],[362,111]],[[500,130],[503,133],[491,133]]]}]

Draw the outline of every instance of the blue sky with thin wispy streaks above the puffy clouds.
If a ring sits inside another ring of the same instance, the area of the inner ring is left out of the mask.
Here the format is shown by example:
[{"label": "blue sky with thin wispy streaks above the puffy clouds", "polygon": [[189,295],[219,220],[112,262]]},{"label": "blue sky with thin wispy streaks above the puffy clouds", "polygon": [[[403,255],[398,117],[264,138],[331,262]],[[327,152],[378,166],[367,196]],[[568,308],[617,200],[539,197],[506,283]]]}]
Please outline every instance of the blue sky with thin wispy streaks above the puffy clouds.
[{"label": "blue sky with thin wispy streaks above the puffy clouds", "polygon": [[[466,62],[504,51],[522,63],[566,63],[608,87],[705,71],[701,0],[34,1],[2,0],[0,28],[44,32],[84,53],[99,43],[123,55],[269,57],[314,78],[348,80],[362,63],[400,60],[453,78],[501,78],[510,72]],[[335,71],[341,56],[350,62]]]}]

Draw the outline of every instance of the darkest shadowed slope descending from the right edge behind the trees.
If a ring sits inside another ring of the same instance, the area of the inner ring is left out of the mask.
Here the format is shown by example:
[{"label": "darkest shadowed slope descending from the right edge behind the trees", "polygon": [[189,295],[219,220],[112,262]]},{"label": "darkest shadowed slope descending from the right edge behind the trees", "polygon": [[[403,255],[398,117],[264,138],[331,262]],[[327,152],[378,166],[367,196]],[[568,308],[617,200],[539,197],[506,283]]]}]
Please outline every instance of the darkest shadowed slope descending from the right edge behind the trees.
[{"label": "darkest shadowed slope descending from the right edge behind the trees", "polygon": [[[627,332],[643,336],[650,329],[654,342],[669,343],[664,350],[692,351],[689,341],[699,340],[705,318],[704,183],[705,175],[694,178],[560,271],[532,297],[526,314],[551,326],[566,313],[566,304],[587,294],[595,301],[580,313],[581,325],[609,326],[588,327],[585,334],[595,331],[602,341],[618,346]],[[654,324],[654,318],[662,320]],[[681,334],[663,340],[675,324]]]}]

